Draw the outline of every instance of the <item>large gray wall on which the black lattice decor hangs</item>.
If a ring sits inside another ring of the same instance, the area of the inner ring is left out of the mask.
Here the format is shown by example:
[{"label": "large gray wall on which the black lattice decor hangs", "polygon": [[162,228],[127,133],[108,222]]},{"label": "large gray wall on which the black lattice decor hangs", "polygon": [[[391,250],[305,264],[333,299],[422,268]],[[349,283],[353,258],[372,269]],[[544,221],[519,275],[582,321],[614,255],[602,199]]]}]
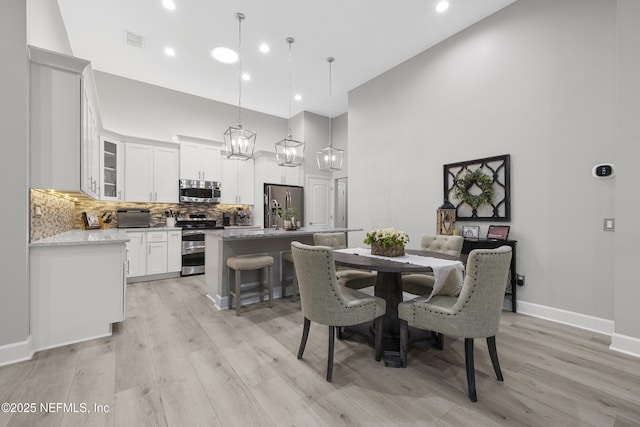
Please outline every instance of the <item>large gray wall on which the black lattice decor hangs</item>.
[{"label": "large gray wall on which the black lattice decor hangs", "polygon": [[350,92],[350,224],[417,247],[443,164],[511,154],[521,300],[613,320],[615,40],[615,0],[519,0]]}]

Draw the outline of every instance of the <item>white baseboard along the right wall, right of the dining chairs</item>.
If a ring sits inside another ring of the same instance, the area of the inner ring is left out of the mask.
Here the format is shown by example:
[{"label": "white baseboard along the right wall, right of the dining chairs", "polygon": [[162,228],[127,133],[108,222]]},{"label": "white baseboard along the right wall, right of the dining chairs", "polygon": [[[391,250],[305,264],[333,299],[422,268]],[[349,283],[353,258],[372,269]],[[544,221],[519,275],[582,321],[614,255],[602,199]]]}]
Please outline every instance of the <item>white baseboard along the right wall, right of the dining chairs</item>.
[{"label": "white baseboard along the right wall, right of the dining chairs", "polygon": [[615,322],[613,320],[574,313],[526,301],[518,301],[518,313],[609,335],[611,337],[609,349],[630,356],[640,357],[640,339],[616,334],[614,332]]}]

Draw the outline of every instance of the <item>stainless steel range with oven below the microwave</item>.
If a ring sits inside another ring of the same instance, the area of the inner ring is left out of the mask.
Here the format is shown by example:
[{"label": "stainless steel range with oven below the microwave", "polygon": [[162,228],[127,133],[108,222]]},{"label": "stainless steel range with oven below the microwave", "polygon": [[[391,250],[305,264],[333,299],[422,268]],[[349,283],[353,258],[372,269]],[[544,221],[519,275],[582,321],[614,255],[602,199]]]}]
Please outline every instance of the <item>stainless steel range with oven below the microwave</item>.
[{"label": "stainless steel range with oven below the microwave", "polygon": [[215,220],[206,214],[190,214],[188,218],[176,222],[182,227],[182,271],[181,276],[204,274],[204,233],[207,230],[221,230]]}]

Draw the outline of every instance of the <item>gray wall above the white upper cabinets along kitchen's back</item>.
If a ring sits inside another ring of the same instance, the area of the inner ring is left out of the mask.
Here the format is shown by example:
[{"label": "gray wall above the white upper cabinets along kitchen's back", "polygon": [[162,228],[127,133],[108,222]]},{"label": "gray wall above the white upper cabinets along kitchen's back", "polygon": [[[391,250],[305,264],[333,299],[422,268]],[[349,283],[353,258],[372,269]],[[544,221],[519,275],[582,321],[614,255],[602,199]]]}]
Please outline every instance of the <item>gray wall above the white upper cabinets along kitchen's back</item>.
[{"label": "gray wall above the white upper cabinets along kitchen's back", "polygon": [[[102,124],[122,135],[171,141],[179,134],[222,142],[224,131],[238,122],[237,105],[100,71],[94,75]],[[243,109],[242,123],[258,132],[256,150],[274,151],[287,135],[287,120],[281,117]]]}]

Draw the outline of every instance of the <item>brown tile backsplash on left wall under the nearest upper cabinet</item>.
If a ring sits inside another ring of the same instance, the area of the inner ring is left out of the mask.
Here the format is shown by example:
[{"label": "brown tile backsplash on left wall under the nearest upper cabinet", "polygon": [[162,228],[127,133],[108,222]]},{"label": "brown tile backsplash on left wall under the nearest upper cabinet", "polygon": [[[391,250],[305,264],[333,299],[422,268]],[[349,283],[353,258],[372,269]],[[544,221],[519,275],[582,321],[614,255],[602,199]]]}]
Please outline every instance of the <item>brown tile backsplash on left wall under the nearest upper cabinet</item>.
[{"label": "brown tile backsplash on left wall under the nearest upper cabinet", "polygon": [[29,240],[44,239],[74,227],[75,203],[42,190],[31,190]]}]

